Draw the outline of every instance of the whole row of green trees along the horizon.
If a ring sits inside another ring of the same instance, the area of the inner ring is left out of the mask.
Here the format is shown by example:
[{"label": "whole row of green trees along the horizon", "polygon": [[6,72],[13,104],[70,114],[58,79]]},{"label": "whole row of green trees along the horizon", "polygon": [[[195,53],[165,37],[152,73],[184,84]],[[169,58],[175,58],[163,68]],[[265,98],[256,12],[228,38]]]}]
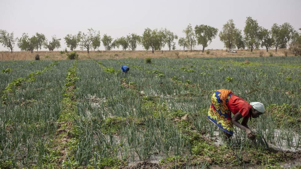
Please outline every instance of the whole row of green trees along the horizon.
[{"label": "whole row of green trees along the horizon", "polygon": [[[301,29],[300,29],[301,30]],[[235,27],[234,21],[230,19],[224,25],[221,31],[218,33],[218,29],[209,25],[196,25],[193,29],[189,24],[186,29],[183,30],[184,37],[178,37],[175,33],[168,29],[150,29],[146,28],[142,36],[136,33],[131,33],[127,36],[122,36],[117,39],[113,39],[111,36],[104,34],[101,38],[100,32],[88,29],[87,33],[78,32],[75,35],[68,34],[64,37],[65,44],[71,51],[78,46],[87,52],[92,49],[95,51],[103,43],[107,51],[113,48],[121,47],[123,50],[135,50],[137,45],[142,45],[146,50],[161,50],[165,45],[169,50],[175,49],[175,40],[178,40],[178,45],[183,50],[192,49],[198,44],[202,45],[202,52],[218,35],[220,40],[224,43],[228,49],[258,49],[260,47],[268,49],[274,47],[276,52],[278,48],[290,47],[292,50],[299,50],[301,46],[301,34],[298,33],[289,23],[285,22],[282,25],[273,24],[271,29],[265,29],[258,25],[257,20],[252,17],[247,17],[245,21],[245,27],[240,30]],[[49,51],[53,51],[55,48],[61,47],[60,38],[55,35],[48,41],[45,35],[42,33],[36,33],[29,37],[27,33],[23,33],[22,37],[14,39],[14,33],[8,33],[6,30],[0,30],[0,43],[10,49],[13,52],[14,44],[17,42],[21,51],[41,50],[42,47],[48,48]]]}]

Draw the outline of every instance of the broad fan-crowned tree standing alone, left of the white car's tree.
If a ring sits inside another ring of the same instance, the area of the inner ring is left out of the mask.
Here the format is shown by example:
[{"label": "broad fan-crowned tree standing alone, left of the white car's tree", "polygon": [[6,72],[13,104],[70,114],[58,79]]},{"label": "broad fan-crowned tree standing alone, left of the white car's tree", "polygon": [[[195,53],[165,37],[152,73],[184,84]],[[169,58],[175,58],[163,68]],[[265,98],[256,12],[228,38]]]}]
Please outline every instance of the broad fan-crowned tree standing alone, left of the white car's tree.
[{"label": "broad fan-crowned tree standing alone, left of the white car's tree", "polygon": [[203,46],[202,52],[204,52],[205,48],[216,37],[218,29],[209,25],[196,25],[194,27],[194,31],[197,38],[197,44],[201,44]]}]

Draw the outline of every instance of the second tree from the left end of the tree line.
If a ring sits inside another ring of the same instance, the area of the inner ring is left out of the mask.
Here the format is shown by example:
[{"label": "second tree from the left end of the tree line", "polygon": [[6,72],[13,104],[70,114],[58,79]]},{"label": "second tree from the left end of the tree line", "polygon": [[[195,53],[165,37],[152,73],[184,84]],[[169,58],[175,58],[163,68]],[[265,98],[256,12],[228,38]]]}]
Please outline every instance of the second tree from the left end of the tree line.
[{"label": "second tree from the left end of the tree line", "polygon": [[37,37],[32,36],[29,38],[27,33],[23,33],[21,38],[18,38],[18,47],[21,51],[30,51],[31,53],[37,47]]}]

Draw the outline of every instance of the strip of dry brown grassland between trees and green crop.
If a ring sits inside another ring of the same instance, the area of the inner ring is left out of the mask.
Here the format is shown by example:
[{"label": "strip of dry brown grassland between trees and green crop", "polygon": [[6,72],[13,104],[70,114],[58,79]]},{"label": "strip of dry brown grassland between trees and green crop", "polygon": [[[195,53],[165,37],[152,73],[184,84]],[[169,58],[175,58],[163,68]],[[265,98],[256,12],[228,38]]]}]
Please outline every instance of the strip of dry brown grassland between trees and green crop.
[{"label": "strip of dry brown grassland between trees and green crop", "polygon": [[[206,52],[209,51],[209,54]],[[257,49],[250,52],[248,49],[236,50],[237,53],[228,53],[226,50],[201,50],[190,51],[76,51],[79,54],[79,59],[123,59],[123,58],[199,58],[199,57],[259,57],[260,52],[264,57],[268,57],[272,52],[273,56],[284,56],[284,51],[288,52],[288,56],[292,56],[288,49],[275,49],[266,52],[265,49]],[[0,52],[0,60],[34,60],[35,55],[39,54],[41,60],[62,60],[66,59],[66,54],[61,54],[59,51],[34,51],[30,52]]]}]

